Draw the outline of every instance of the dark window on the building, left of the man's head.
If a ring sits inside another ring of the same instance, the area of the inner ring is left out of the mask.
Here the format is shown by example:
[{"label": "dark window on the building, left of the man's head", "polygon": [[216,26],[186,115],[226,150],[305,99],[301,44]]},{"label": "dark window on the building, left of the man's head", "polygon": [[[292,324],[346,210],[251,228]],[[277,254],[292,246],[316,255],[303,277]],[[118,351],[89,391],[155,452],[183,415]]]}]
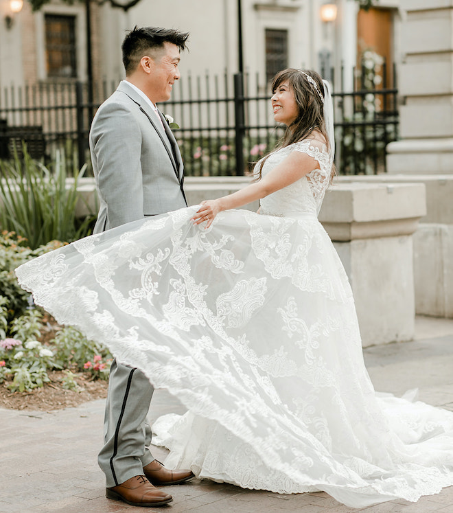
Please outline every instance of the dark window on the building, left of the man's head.
[{"label": "dark window on the building, left of the man's head", "polygon": [[75,16],[45,15],[47,77],[75,78]]}]

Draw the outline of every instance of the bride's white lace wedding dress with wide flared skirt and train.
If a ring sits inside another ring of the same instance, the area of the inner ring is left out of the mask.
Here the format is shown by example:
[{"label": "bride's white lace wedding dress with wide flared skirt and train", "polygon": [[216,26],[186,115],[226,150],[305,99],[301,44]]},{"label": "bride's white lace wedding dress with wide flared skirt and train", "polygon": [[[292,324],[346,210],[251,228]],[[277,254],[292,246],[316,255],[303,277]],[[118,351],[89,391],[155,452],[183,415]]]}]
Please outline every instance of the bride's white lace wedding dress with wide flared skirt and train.
[{"label": "bride's white lace wedding dress with wide flared skirt and train", "polygon": [[209,229],[197,207],[91,236],[21,266],[60,323],[106,344],[189,410],[170,467],[244,488],[325,490],[352,507],[453,484],[453,413],[377,396],[347,276],[317,213],[331,161]]}]

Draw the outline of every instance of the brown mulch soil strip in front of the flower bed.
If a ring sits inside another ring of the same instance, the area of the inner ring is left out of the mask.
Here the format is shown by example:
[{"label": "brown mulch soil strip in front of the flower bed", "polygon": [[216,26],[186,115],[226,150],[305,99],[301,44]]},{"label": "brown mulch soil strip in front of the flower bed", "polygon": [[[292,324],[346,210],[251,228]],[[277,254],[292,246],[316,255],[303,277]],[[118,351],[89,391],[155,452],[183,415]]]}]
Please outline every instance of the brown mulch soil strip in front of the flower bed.
[{"label": "brown mulch soil strip in front of the flower bed", "polygon": [[11,392],[6,388],[9,382],[3,382],[0,385],[0,408],[51,411],[75,407],[107,396],[108,381],[91,381],[89,376],[80,372],[74,378],[80,390],[75,391],[62,387],[64,377],[65,373],[62,371],[49,372],[50,383],[30,392]]}]

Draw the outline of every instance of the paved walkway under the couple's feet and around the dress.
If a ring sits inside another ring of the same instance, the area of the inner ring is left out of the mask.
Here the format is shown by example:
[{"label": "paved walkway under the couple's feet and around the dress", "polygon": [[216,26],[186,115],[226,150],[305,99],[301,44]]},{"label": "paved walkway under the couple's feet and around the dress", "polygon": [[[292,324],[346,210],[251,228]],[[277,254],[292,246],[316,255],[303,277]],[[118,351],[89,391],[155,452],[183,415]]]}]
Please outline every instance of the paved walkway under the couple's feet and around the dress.
[{"label": "paved walkway under the couple's feet and around the dress", "polygon": [[[453,410],[453,321],[417,319],[415,341],[371,347],[364,354],[377,390],[402,394],[419,387],[421,400]],[[154,417],[169,411],[181,407],[156,391]],[[392,501],[363,510],[342,506],[323,492],[279,495],[196,479],[167,487],[174,501],[162,508],[110,501],[96,461],[103,414],[104,400],[47,413],[0,409],[0,512],[453,513],[453,487],[415,504]],[[165,452],[153,450],[158,459]]]}]

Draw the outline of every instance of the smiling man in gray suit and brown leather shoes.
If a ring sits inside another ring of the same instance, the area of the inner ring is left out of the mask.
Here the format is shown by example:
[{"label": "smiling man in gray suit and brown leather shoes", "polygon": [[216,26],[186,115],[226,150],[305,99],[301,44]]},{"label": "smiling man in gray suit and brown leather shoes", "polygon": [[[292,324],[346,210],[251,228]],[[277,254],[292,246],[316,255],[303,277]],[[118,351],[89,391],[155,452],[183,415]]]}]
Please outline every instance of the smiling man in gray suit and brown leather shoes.
[{"label": "smiling man in gray suit and brown leather shoes", "polygon": [[[94,233],[187,205],[183,161],[157,102],[170,99],[180,77],[180,51],[189,34],[143,27],[122,45],[126,80],[98,109],[90,150],[100,211]],[[138,369],[113,361],[98,462],[106,497],[137,506],[158,506],[172,496],[156,486],[183,483],[190,470],[167,470],[149,451],[146,421],[154,389]]]}]

